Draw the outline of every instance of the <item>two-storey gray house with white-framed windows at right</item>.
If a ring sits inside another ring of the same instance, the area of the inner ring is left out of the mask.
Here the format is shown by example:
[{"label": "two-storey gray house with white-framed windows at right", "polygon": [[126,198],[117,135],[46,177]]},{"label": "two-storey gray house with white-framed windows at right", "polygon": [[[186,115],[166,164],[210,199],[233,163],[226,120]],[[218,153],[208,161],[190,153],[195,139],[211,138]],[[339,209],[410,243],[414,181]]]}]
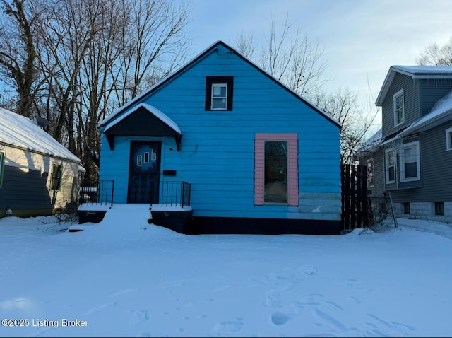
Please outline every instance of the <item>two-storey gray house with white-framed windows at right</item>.
[{"label": "two-storey gray house with white-framed windows at right", "polygon": [[452,222],[452,66],[391,66],[376,99],[382,127],[357,153],[370,197],[397,216]]}]

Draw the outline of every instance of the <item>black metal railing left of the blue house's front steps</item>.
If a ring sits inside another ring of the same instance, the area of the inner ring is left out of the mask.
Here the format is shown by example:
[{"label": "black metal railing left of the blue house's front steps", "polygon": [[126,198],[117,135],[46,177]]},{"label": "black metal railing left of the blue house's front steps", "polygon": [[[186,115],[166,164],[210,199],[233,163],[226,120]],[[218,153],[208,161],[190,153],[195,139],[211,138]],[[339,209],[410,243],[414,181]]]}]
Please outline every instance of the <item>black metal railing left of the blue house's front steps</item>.
[{"label": "black metal railing left of the blue house's front steps", "polygon": [[80,185],[79,204],[113,205],[114,181],[82,180]]}]

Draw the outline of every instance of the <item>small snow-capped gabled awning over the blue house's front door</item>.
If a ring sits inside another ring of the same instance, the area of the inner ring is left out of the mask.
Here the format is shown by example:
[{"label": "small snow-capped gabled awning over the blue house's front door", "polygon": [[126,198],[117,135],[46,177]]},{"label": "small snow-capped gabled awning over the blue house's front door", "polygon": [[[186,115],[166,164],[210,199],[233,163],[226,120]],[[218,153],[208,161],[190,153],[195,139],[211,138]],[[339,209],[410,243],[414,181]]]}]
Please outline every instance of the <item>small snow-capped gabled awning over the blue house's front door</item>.
[{"label": "small snow-capped gabled awning over the blue house's front door", "polygon": [[114,149],[114,136],[169,136],[174,137],[177,151],[181,150],[182,132],[167,115],[152,105],[141,103],[124,115],[108,122],[101,131]]}]

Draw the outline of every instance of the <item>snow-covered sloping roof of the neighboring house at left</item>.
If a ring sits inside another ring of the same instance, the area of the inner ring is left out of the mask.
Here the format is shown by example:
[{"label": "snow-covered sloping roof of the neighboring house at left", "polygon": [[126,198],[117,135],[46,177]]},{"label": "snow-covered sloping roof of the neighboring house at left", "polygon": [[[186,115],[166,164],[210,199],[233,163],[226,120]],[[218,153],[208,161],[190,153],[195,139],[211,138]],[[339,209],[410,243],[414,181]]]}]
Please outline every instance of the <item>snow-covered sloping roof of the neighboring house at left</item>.
[{"label": "snow-covered sloping roof of the neighboring house at left", "polygon": [[77,156],[28,117],[3,108],[0,108],[0,143],[81,163]]}]

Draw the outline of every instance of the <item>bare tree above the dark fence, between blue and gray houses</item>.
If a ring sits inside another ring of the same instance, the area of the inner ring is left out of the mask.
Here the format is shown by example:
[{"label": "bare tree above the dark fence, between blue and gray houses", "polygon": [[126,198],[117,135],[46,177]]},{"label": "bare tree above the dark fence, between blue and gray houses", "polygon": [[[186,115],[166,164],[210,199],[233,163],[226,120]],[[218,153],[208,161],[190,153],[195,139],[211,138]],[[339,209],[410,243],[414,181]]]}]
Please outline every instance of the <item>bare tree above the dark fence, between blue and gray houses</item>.
[{"label": "bare tree above the dark fence, between blue and gray houses", "polygon": [[317,93],[315,103],[323,111],[338,120],[340,129],[340,153],[343,163],[351,163],[355,152],[364,144],[377,112],[368,113],[359,108],[357,94],[348,88],[338,88],[334,93]]}]

